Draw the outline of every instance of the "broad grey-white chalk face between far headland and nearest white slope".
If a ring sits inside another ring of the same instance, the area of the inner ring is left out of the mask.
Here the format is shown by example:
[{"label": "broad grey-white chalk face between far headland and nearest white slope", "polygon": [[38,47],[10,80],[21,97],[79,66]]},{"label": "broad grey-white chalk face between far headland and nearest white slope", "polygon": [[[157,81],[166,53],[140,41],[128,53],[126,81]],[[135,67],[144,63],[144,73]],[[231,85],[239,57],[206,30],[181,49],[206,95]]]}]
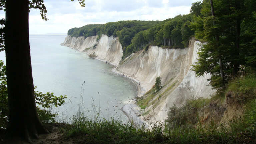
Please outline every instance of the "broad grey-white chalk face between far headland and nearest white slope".
[{"label": "broad grey-white chalk face between far headland and nearest white slope", "polygon": [[161,77],[163,84],[180,72],[180,66],[186,56],[185,49],[163,49],[150,46],[148,51],[131,54],[117,67],[121,73],[138,80],[144,93],[155,84],[156,77]]}]

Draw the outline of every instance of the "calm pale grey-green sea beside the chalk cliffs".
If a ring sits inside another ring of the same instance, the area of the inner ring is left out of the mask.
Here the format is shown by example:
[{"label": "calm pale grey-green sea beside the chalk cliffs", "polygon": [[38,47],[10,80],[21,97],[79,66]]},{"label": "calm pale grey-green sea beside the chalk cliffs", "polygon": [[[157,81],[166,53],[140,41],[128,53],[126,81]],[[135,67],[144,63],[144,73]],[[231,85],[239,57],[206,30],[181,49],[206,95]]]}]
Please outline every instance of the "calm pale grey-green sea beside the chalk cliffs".
[{"label": "calm pale grey-green sea beside the chalk cliffs", "polygon": [[[43,93],[67,95],[66,103],[53,109],[60,120],[68,120],[79,110],[92,118],[100,109],[100,117],[126,121],[120,108],[136,95],[135,84],[112,73],[113,66],[61,46],[65,37],[30,35],[34,86]],[[5,61],[4,52],[0,59]]]}]

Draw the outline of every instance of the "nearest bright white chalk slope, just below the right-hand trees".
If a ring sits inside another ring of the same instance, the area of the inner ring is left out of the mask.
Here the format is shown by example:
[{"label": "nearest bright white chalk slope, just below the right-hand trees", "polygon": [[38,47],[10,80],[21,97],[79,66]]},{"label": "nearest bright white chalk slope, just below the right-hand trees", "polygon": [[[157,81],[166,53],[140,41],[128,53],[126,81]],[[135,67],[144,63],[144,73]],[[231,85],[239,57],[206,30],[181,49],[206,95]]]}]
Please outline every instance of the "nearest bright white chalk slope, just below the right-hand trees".
[{"label": "nearest bright white chalk slope, just below the right-hand trees", "polygon": [[185,100],[195,98],[207,98],[214,94],[215,90],[209,86],[210,74],[204,74],[203,76],[197,77],[196,73],[191,70],[191,64],[197,62],[198,54],[197,51],[200,48],[201,42],[192,39],[188,47],[188,52],[183,60],[180,68],[179,80],[177,87],[166,97],[166,101],[162,102],[159,107],[159,112],[156,117],[159,120],[167,118],[167,110],[169,107],[180,106],[184,104]]}]

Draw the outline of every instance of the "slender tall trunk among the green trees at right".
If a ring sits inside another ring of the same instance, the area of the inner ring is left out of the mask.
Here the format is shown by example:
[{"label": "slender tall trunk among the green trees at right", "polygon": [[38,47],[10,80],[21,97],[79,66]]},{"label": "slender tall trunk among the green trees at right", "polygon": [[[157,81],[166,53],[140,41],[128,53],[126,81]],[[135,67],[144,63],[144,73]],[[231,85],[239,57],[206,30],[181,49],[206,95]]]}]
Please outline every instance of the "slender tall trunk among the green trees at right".
[{"label": "slender tall trunk among the green trees at right", "polygon": [[[213,25],[215,25],[215,14],[214,14],[214,6],[213,6],[213,1],[210,0],[211,3],[211,10],[212,10],[212,18],[213,18]],[[221,49],[219,48],[219,36],[216,34],[216,43],[217,43],[217,47],[218,47],[218,54],[219,54],[219,66],[220,66],[220,77],[222,79],[222,85],[225,86],[225,82],[224,82],[224,73],[223,73],[223,64],[222,64],[222,54],[221,54]]]}]

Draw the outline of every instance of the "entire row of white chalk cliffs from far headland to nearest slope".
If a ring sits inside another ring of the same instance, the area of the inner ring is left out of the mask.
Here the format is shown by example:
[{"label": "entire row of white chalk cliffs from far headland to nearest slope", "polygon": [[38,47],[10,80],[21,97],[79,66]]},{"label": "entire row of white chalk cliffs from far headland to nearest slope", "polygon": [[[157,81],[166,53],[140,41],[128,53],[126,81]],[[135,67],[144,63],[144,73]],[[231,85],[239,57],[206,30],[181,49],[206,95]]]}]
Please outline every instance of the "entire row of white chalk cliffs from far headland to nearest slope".
[{"label": "entire row of white chalk cliffs from far headland to nearest slope", "polygon": [[[132,53],[121,61],[123,51],[118,38],[102,35],[99,41],[97,36],[70,37],[67,36],[62,45],[92,54],[95,52],[98,59],[116,65],[116,71],[138,81],[142,87],[143,95],[155,84],[156,77],[161,77],[163,88],[157,93],[162,94],[157,108],[155,107],[156,120],[167,118],[169,107],[181,105],[186,99],[192,97],[210,97],[215,91],[209,86],[210,74],[196,77],[191,70],[191,64],[197,61],[197,51],[201,42],[192,38],[188,48],[163,49],[150,46],[147,51]],[[97,45],[96,45],[97,44]],[[121,61],[121,63],[120,63]],[[152,110],[152,107],[146,108]]]}]

